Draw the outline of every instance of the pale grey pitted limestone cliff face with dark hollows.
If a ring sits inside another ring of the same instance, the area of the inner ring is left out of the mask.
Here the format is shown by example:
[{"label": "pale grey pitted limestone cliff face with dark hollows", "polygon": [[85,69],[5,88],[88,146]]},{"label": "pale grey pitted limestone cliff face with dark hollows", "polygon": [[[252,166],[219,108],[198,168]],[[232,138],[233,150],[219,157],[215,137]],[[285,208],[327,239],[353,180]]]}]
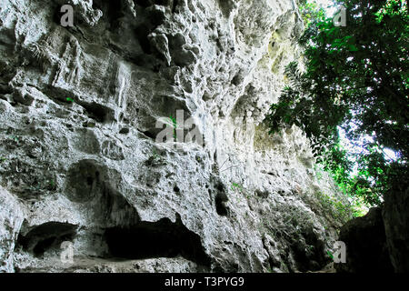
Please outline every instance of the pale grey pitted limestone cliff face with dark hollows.
[{"label": "pale grey pitted limestone cliff face with dark hollows", "polygon": [[288,0],[1,1],[0,270],[329,263],[342,198],[263,122],[302,28]]}]

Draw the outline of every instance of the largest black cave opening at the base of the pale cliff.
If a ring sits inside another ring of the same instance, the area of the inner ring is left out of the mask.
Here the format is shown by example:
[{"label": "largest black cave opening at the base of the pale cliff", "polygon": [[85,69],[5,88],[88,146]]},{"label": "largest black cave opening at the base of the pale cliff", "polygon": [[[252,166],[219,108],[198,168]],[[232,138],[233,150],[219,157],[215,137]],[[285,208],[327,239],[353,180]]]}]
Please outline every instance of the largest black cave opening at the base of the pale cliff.
[{"label": "largest black cave opening at the base of the pale cliff", "polygon": [[109,255],[125,259],[183,256],[200,266],[210,266],[200,236],[178,219],[141,222],[135,226],[110,227],[105,230]]}]

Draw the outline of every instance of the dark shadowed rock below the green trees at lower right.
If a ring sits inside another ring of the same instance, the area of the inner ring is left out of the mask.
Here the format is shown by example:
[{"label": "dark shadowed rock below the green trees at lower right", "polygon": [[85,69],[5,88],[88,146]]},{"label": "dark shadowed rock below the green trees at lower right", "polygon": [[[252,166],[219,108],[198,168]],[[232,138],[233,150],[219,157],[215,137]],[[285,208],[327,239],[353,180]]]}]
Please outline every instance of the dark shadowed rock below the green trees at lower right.
[{"label": "dark shadowed rock below the green trees at lower right", "polygon": [[[401,173],[404,171],[407,168],[402,166]],[[391,181],[381,207],[341,228],[338,239],[344,241],[347,251],[346,262],[334,264],[338,272],[409,272],[409,186],[401,179]]]}]

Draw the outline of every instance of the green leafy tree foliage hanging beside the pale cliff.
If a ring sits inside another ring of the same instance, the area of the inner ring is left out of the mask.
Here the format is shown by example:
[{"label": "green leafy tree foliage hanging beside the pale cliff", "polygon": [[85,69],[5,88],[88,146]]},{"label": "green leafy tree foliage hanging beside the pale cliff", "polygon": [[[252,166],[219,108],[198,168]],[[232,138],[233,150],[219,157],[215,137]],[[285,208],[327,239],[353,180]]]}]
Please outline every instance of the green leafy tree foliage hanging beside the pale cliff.
[{"label": "green leafy tree foliage hanging beside the pale cliff", "polygon": [[[314,156],[345,194],[379,205],[407,178],[409,15],[404,1],[343,0],[346,26],[321,12],[300,38],[306,70],[287,66],[289,85],[272,105],[271,133],[298,125]],[[313,6],[305,8],[314,9]],[[340,129],[360,150],[341,146]],[[385,149],[397,154],[390,159]]]}]

